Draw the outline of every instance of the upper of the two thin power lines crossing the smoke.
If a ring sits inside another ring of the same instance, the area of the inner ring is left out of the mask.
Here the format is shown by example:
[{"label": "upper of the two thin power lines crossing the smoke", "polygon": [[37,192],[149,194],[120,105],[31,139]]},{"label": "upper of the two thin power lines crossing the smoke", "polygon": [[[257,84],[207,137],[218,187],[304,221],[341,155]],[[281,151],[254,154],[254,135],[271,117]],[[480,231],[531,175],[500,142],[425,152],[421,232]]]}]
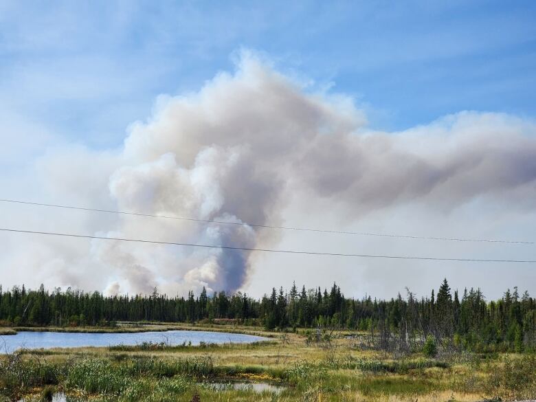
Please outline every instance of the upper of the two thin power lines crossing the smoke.
[{"label": "upper of the two thin power lines crossing the smoke", "polygon": [[435,237],[435,236],[410,236],[405,234],[389,234],[389,233],[373,233],[373,232],[346,232],[344,230],[323,230],[315,229],[312,227],[290,227],[290,226],[276,226],[276,225],[259,225],[256,223],[247,223],[247,222],[230,222],[230,221],[219,221],[216,219],[196,219],[189,218],[186,216],[172,216],[172,215],[158,215],[158,214],[142,214],[140,212],[126,212],[119,210],[102,210],[98,208],[85,208],[77,207],[73,205],[60,205],[60,204],[49,204],[49,203],[36,203],[30,201],[19,201],[12,199],[0,199],[1,202],[5,203],[19,203],[25,205],[39,205],[43,207],[52,207],[52,208],[65,208],[69,210],[82,210],[82,211],[91,211],[91,212],[105,212],[109,214],[122,214],[122,215],[134,215],[134,216],[146,216],[150,218],[162,218],[162,219],[178,219],[180,221],[192,221],[200,223],[216,223],[218,225],[248,225],[251,227],[263,227],[267,229],[279,229],[279,230],[295,230],[300,232],[317,232],[317,233],[331,233],[331,234],[349,234],[355,236],[375,236],[375,237],[393,237],[393,238],[410,238],[410,239],[421,239],[421,240],[434,240],[434,241],[469,241],[469,242],[478,242],[478,243],[510,243],[510,244],[526,244],[534,245],[536,241],[511,241],[511,240],[500,240],[500,239],[486,239],[486,238],[457,238],[457,237]]}]

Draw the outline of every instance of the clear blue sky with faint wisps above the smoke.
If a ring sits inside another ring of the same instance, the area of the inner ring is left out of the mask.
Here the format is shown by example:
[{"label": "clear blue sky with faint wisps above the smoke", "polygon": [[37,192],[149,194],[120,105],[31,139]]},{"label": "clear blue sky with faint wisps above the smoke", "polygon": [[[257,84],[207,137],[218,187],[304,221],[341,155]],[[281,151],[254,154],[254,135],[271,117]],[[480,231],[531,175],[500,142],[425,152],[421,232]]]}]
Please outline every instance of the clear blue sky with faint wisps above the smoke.
[{"label": "clear blue sky with faint wisps above the smoke", "polygon": [[0,102],[9,119],[115,146],[158,94],[199,89],[245,47],[353,96],[378,129],[532,117],[535,21],[533,1],[2,1]]}]

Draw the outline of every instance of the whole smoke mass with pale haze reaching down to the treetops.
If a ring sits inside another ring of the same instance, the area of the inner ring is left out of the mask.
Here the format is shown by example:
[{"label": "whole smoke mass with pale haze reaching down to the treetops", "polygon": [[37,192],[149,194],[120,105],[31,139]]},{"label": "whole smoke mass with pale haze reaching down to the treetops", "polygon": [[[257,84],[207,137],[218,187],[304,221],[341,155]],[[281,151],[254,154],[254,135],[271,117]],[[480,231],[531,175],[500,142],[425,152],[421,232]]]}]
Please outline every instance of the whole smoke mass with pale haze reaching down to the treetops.
[{"label": "whole smoke mass with pale haze reaching down to the treetops", "polygon": [[[246,53],[235,74],[218,74],[197,93],[161,98],[148,122],[131,126],[122,149],[56,146],[35,165],[36,194],[44,188],[63,203],[243,225],[74,212],[67,219],[67,212],[58,211],[23,216],[26,210],[13,206],[2,225],[25,222],[63,232],[238,247],[333,252],[359,247],[370,254],[479,253],[485,258],[502,251],[473,243],[274,233],[246,223],[439,236],[452,231],[447,236],[467,237],[503,237],[510,230],[509,236],[530,236],[526,222],[535,219],[535,133],[534,122],[476,112],[400,133],[371,131],[350,98],[309,93]],[[522,230],[515,231],[516,225]],[[405,285],[429,287],[438,272],[452,273],[461,283],[458,268],[446,264],[299,260],[221,249],[1,237],[9,246],[0,256],[9,284],[25,280],[36,286],[43,275],[35,273],[45,273],[49,287],[72,284],[111,293],[148,293],[155,286],[172,294],[202,286],[260,293],[267,284],[303,280],[315,286],[337,280],[349,293],[370,289],[390,295]],[[12,267],[16,273],[10,273]],[[493,280],[482,279],[484,290],[504,277],[504,269],[493,270]],[[533,275],[522,271],[520,278]]]}]

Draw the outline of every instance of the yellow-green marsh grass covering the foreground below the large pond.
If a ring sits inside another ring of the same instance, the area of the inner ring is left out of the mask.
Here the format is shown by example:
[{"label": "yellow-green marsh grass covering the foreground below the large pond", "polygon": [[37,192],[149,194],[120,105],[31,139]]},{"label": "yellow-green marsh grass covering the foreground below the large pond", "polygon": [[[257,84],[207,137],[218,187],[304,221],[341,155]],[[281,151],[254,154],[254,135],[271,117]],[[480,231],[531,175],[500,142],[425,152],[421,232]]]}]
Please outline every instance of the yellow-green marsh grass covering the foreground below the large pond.
[{"label": "yellow-green marsh grass covering the foreground below the large pond", "polygon": [[[4,355],[0,401],[38,401],[47,387],[65,392],[72,401],[120,402],[190,402],[194,394],[200,401],[221,402],[473,402],[536,395],[536,357],[531,355],[396,357],[357,350],[344,337],[326,347],[300,334],[271,335],[278,337],[258,344],[139,344]],[[285,388],[259,393],[206,385],[223,379],[267,381]]]}]

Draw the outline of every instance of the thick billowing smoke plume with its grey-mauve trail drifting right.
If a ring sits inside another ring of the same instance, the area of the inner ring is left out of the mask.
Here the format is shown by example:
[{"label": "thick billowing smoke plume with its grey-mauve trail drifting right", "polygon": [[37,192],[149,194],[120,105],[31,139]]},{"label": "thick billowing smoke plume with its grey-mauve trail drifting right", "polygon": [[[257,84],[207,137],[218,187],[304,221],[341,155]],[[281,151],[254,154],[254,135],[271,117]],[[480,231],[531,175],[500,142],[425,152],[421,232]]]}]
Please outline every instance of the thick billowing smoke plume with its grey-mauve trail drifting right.
[{"label": "thick billowing smoke plume with its grey-mauve trail drifting right", "polygon": [[[243,223],[107,216],[105,224],[102,217],[78,223],[78,232],[264,247],[278,242],[277,233],[247,223],[284,223],[291,197],[304,209],[324,199],[350,220],[393,205],[449,210],[482,197],[533,210],[535,134],[533,122],[472,112],[379,133],[367,129],[348,98],[308,93],[245,55],[235,74],[219,74],[198,93],[160,98],[148,122],[131,126],[121,150],[76,157],[58,150],[38,166],[49,188],[80,205]],[[87,186],[80,193],[82,177]],[[25,260],[15,248],[2,263],[46,269],[51,282],[90,283],[109,293],[234,291],[252,270],[248,252],[111,241],[62,251],[58,243],[39,239],[39,258]]]}]

